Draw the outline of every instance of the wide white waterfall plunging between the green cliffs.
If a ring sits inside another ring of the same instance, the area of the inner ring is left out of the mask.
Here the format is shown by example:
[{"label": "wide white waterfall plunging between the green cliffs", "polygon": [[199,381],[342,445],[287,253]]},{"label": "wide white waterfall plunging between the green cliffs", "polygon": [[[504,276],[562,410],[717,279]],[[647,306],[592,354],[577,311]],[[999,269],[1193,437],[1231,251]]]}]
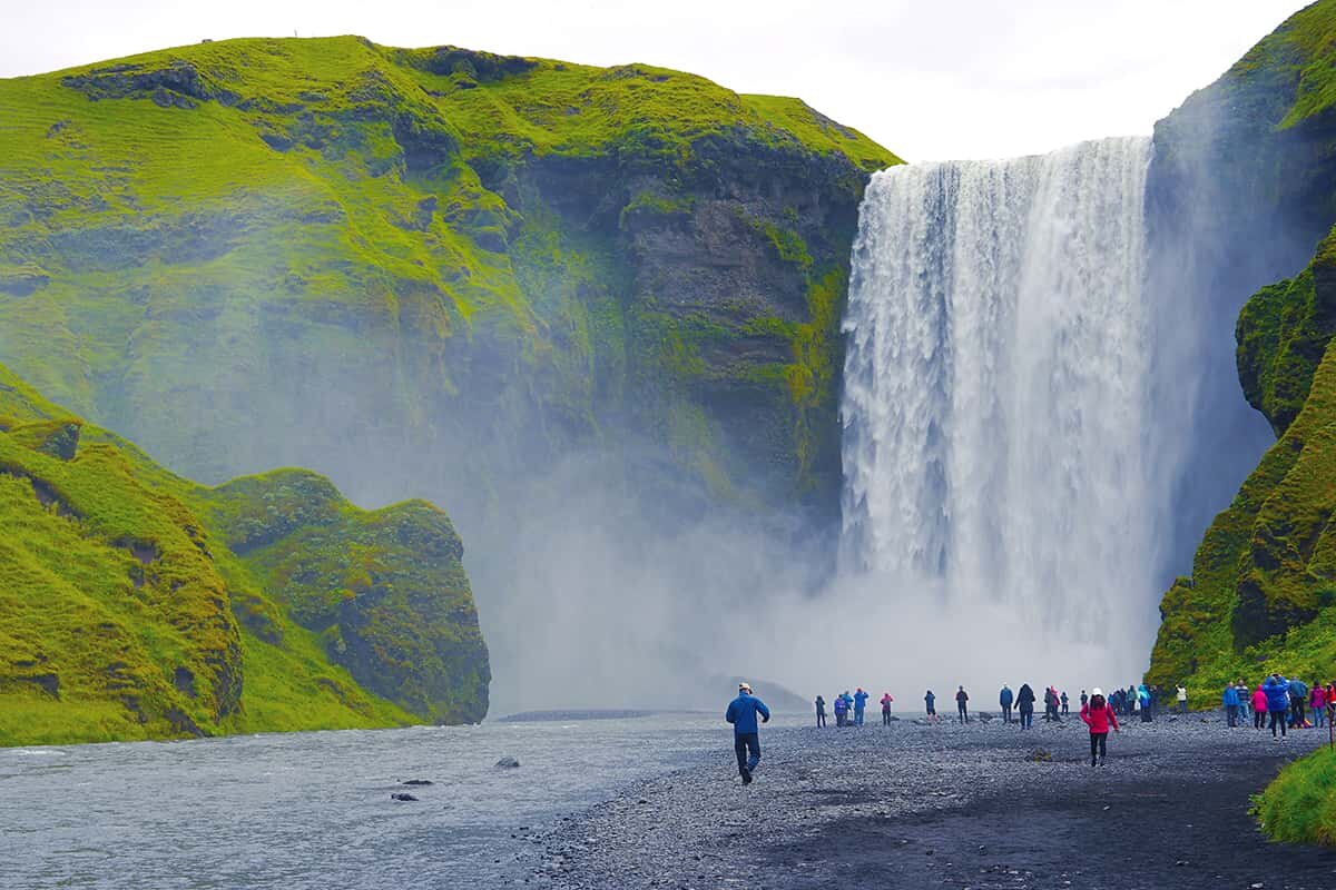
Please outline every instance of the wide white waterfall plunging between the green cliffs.
[{"label": "wide white waterfall plunging between the green cliffs", "polygon": [[1075,634],[1154,595],[1150,140],[912,164],[863,200],[844,320],[847,570]]}]

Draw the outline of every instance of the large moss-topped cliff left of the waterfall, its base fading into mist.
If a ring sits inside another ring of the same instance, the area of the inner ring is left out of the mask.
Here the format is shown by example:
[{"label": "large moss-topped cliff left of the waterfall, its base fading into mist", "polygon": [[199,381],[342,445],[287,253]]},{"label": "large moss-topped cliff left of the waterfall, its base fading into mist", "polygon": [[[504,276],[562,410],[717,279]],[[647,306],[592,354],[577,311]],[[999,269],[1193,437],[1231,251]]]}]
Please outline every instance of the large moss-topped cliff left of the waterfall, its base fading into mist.
[{"label": "large moss-topped cliff left of the waterfall, its base fading into mist", "polygon": [[831,514],[848,248],[892,163],[795,99],[358,37],[5,80],[0,360],[211,482],[315,466],[476,518],[593,448]]}]

